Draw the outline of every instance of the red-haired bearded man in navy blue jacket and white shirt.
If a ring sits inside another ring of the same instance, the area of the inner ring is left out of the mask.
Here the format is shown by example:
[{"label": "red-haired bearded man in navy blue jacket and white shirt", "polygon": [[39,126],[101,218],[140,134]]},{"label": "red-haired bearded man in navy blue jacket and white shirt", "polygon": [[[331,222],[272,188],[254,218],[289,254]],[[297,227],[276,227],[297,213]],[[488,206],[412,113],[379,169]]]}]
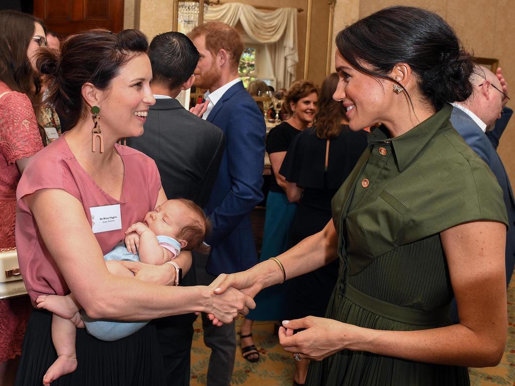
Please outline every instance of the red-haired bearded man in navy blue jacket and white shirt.
[{"label": "red-haired bearded man in navy blue jacket and white shirt", "polygon": [[[213,231],[205,240],[208,256],[196,257],[199,284],[210,284],[213,275],[249,269],[258,262],[250,212],[263,200],[263,163],[266,127],[263,114],[245,90],[238,75],[243,42],[238,32],[223,23],[206,23],[189,34],[200,60],[195,85],[205,93],[207,110],[202,118],[224,132],[227,142],[205,212]],[[208,386],[228,386],[236,352],[234,325],[213,326],[202,314],[204,342],[212,349]]]}]

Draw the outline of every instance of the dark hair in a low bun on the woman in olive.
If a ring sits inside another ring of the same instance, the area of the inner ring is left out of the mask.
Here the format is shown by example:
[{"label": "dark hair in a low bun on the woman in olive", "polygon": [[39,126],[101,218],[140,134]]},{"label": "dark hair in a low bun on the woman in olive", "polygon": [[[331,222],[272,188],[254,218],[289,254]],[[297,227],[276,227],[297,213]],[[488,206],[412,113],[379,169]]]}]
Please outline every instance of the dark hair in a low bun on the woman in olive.
[{"label": "dark hair in a low bun on the woman in olive", "polygon": [[[377,11],[338,33],[340,54],[355,68],[387,78],[397,63],[407,63],[423,95],[436,109],[472,93],[471,55],[439,15],[422,8],[394,6]],[[360,63],[369,63],[373,70]]]}]

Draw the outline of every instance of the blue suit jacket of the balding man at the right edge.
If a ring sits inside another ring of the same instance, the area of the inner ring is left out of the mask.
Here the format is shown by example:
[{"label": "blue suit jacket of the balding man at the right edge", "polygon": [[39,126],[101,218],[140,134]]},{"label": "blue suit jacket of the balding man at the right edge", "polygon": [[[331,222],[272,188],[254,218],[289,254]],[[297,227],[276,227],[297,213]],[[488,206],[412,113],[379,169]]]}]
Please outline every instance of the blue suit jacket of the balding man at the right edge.
[{"label": "blue suit jacket of the balding man at the right edge", "polygon": [[486,162],[503,189],[503,198],[509,224],[506,234],[506,286],[510,282],[513,265],[515,264],[515,200],[513,199],[513,191],[511,190],[508,174],[504,169],[499,154],[497,154],[496,148],[512,113],[511,109],[504,108],[503,115],[495,123],[495,129],[487,134],[465,112],[454,108],[451,114],[451,123],[454,128],[461,134],[472,150]]}]

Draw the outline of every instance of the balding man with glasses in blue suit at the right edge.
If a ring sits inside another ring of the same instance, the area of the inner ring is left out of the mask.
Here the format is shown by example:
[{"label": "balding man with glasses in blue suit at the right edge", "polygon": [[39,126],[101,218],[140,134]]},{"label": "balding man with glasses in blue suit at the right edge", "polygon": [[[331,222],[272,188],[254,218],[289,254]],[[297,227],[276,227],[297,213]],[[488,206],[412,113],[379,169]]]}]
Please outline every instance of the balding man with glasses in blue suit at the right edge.
[{"label": "balding man with glasses in blue suit at the right edge", "polygon": [[[515,200],[508,174],[496,148],[513,111],[504,107],[509,99],[506,94],[507,86],[501,69],[497,74],[496,76],[484,67],[475,67],[475,72],[471,76],[474,91],[466,101],[453,103],[451,122],[472,150],[490,167],[503,189],[509,223],[506,234],[506,286],[508,286],[515,264]],[[453,313],[453,319],[457,320],[455,306]]]}]

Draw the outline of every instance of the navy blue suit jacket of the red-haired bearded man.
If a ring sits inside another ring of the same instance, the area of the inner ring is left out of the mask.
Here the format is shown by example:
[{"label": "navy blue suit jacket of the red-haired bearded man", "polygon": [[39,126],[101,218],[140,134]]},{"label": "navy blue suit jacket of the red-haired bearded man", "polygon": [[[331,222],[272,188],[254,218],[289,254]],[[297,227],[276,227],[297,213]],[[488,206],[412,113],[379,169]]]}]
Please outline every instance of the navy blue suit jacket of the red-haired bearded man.
[{"label": "navy blue suit jacket of the red-haired bearded man", "polygon": [[207,271],[213,275],[244,271],[258,262],[250,225],[251,210],[263,200],[266,126],[242,82],[215,104],[208,121],[227,142],[205,213],[213,222]]}]

